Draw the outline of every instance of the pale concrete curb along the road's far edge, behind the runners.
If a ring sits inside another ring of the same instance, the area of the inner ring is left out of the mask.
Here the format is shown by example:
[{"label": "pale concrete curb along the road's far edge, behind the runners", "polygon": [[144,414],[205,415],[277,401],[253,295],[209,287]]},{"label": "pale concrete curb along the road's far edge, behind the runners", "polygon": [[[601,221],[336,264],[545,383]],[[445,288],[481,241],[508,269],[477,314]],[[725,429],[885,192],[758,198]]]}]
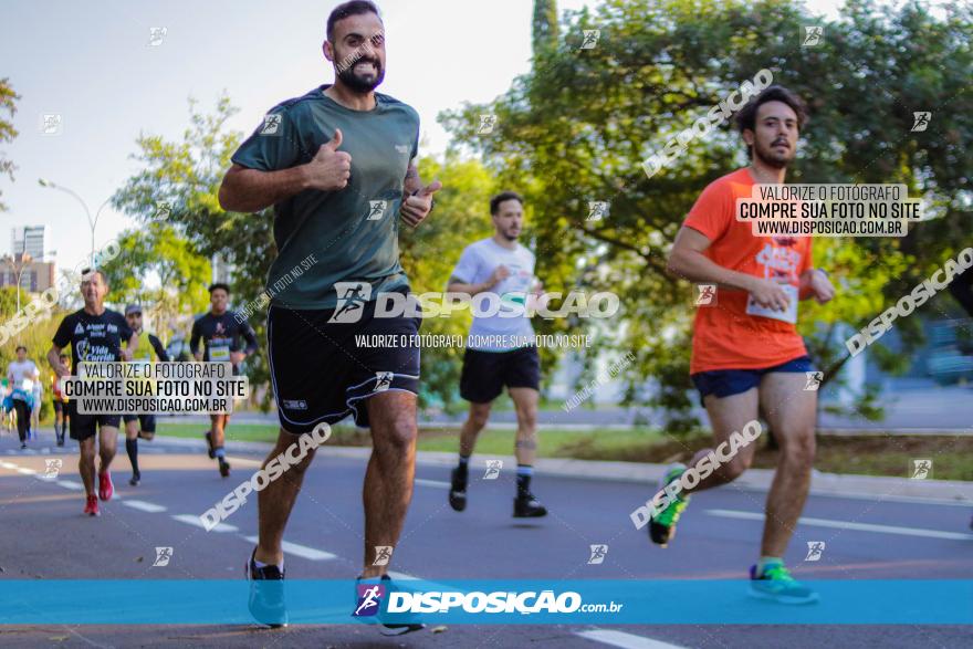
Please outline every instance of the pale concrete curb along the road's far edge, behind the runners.
[{"label": "pale concrete curb along the road's far edge, behind the runners", "polygon": [[[154,443],[184,447],[186,449],[206,450],[202,439],[156,436]],[[230,452],[268,453],[273,449],[269,442],[228,441]],[[367,460],[370,448],[364,447],[322,447],[320,454],[329,458],[348,458]],[[440,451],[419,451],[416,463],[425,467],[452,467],[456,453]],[[514,467],[513,456],[477,456],[472,464],[485,469],[486,461],[500,460],[506,467]],[[572,460],[551,458],[537,460],[534,472],[537,475],[574,478],[580,480],[599,480],[608,482],[630,482],[655,486],[666,472],[666,464],[647,464],[641,462],[607,462],[594,460]],[[728,488],[745,491],[766,492],[774,479],[771,469],[750,469],[733,481]],[[887,475],[854,475],[845,473],[812,473],[810,493],[813,495],[835,495],[841,498],[861,498],[869,500],[889,500],[904,502],[934,502],[937,504],[973,505],[973,482],[960,480],[910,480],[908,478],[890,478]]]}]

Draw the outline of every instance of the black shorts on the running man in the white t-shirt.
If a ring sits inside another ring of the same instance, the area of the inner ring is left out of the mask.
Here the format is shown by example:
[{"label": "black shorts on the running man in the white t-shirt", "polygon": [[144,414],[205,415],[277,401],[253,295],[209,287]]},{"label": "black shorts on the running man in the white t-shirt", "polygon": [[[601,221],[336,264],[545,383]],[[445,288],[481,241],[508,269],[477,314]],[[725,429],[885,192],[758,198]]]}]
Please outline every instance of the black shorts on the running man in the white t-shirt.
[{"label": "black shorts on the running man in the white t-shirt", "polygon": [[460,396],[473,404],[489,404],[508,388],[541,389],[541,356],[534,346],[510,352],[467,349],[460,376]]}]

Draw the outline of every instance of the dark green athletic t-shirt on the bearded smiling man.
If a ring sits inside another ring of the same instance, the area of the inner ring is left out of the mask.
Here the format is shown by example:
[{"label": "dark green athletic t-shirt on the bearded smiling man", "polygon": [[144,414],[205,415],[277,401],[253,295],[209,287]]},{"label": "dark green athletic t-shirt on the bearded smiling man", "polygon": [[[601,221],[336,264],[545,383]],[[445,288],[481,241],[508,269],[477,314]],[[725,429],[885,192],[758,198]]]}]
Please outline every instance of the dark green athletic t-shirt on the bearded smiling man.
[{"label": "dark green athletic t-shirt on the bearded smiling man", "polygon": [[398,211],[406,170],[418,154],[419,115],[379,93],[374,109],[353,111],[325,95],[327,87],[274,106],[232,158],[262,171],[303,165],[336,128],[338,150],[352,156],[344,189],[308,189],[274,205],[278,258],[266,289],[273,304],[291,308],[334,308],[336,282],[368,283],[372,300],[408,286]]}]

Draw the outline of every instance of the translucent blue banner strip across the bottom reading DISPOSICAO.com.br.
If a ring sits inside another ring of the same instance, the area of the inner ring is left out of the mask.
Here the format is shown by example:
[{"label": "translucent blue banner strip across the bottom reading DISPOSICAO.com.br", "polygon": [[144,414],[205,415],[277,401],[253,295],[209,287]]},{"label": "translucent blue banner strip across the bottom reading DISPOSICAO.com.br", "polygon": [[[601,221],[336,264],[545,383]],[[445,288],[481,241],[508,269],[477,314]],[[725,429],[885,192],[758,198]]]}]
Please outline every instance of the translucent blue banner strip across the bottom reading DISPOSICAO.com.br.
[{"label": "translucent blue banner strip across the bottom reading DISPOSICAO.com.br", "polygon": [[973,580],[0,580],[2,625],[970,625]]}]

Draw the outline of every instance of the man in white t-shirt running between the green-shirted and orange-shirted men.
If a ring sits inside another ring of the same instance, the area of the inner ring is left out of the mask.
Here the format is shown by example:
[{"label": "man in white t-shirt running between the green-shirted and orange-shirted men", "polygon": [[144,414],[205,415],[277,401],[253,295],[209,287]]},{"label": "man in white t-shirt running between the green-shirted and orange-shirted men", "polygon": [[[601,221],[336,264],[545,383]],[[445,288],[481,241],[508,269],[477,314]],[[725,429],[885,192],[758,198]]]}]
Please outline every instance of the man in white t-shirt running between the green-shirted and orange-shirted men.
[{"label": "man in white t-shirt running between the green-shirted and orange-shirted men", "polygon": [[519,195],[504,191],[494,196],[490,213],[493,237],[463,250],[447,289],[469,294],[473,305],[460,378],[460,396],[470,401],[470,416],[460,435],[459,465],[452,471],[449,504],[458,512],[467,507],[470,456],[477,436],[486,426],[490,405],[506,386],[517,416],[513,515],[544,516],[547,510],[531,493],[541,388],[541,359],[525,308],[532,293],[540,291],[534,286],[534,254],[517,243],[524,222]]}]

